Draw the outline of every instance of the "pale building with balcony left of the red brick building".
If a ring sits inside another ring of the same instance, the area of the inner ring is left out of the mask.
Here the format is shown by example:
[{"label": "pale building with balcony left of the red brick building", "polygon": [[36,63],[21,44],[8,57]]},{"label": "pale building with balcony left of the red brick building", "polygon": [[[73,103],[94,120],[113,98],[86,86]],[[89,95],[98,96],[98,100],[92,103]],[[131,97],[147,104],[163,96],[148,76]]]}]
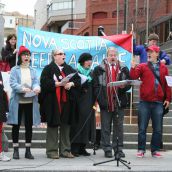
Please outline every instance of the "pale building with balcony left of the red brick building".
[{"label": "pale building with balcony left of the red brick building", "polygon": [[[51,0],[47,2],[45,2],[46,0],[42,1],[38,0],[35,4],[36,13],[41,18],[41,20],[38,20],[38,17],[36,17],[36,29],[42,29],[57,33],[62,33],[66,32],[66,30],[70,30],[70,34],[72,34],[74,29],[73,26],[79,29],[80,25],[83,23],[83,21],[85,21],[86,0]],[[40,2],[44,10],[40,8]],[[44,20],[45,18],[46,21]],[[74,25],[73,21],[77,21],[78,24]],[[37,27],[38,25],[39,27]]]}]

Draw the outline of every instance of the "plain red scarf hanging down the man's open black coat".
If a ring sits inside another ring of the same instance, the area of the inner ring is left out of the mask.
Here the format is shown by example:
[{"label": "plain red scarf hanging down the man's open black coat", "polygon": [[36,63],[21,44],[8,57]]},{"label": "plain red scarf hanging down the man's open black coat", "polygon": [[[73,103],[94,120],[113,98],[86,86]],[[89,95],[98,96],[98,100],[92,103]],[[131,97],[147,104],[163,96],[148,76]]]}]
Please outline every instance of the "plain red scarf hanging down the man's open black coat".
[{"label": "plain red scarf hanging down the man's open black coat", "polygon": [[[62,78],[65,78],[65,74],[63,71],[60,72]],[[66,95],[66,90],[64,87],[56,87],[56,97],[57,97],[57,102],[59,106],[59,111],[60,113],[62,112],[62,103],[65,103],[67,101],[67,95]]]}]

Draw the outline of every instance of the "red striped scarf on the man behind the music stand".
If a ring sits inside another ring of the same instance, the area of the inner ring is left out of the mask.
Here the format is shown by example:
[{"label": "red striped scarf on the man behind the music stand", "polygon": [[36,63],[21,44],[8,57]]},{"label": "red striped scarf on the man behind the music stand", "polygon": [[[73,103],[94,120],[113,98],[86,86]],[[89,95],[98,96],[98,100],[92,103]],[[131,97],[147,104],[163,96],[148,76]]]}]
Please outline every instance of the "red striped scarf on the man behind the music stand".
[{"label": "red striped scarf on the man behind the music stand", "polygon": [[[103,60],[104,65],[105,65],[105,71],[106,71],[106,85],[110,82],[114,82],[112,81],[112,72],[111,72],[111,68],[107,62],[107,59]],[[119,63],[116,65],[116,72],[115,72],[115,78],[117,81],[117,74],[119,72]],[[106,92],[107,92],[107,100],[108,100],[108,111],[109,112],[113,112],[115,110],[115,98],[114,98],[114,94],[115,94],[115,87],[106,87]],[[117,92],[117,89],[116,89]]]}]

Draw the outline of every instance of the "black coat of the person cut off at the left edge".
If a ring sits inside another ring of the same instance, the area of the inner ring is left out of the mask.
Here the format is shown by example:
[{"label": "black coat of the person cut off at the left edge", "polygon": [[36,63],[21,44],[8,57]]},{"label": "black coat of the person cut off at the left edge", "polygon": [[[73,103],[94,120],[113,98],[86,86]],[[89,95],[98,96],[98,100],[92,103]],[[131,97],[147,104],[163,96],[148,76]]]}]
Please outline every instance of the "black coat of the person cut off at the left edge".
[{"label": "black coat of the person cut off at the left edge", "polygon": [[0,122],[6,122],[6,112],[8,112],[7,96],[3,89],[3,80],[0,72]]}]

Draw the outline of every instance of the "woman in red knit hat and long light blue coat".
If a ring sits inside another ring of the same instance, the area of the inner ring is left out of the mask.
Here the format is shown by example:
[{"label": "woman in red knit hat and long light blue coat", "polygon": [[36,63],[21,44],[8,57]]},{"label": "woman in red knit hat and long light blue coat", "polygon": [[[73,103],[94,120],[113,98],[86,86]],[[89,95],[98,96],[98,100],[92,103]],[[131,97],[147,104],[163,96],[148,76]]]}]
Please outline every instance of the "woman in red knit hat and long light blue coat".
[{"label": "woman in red knit hat and long light blue coat", "polygon": [[[17,66],[11,69],[9,114],[7,123],[12,125],[13,159],[19,159],[19,129],[24,117],[25,124],[25,158],[34,159],[30,152],[32,141],[32,125],[40,124],[38,97],[40,93],[36,71],[30,66],[31,52],[25,46],[20,46]],[[23,116],[24,115],[24,116]]]}]

